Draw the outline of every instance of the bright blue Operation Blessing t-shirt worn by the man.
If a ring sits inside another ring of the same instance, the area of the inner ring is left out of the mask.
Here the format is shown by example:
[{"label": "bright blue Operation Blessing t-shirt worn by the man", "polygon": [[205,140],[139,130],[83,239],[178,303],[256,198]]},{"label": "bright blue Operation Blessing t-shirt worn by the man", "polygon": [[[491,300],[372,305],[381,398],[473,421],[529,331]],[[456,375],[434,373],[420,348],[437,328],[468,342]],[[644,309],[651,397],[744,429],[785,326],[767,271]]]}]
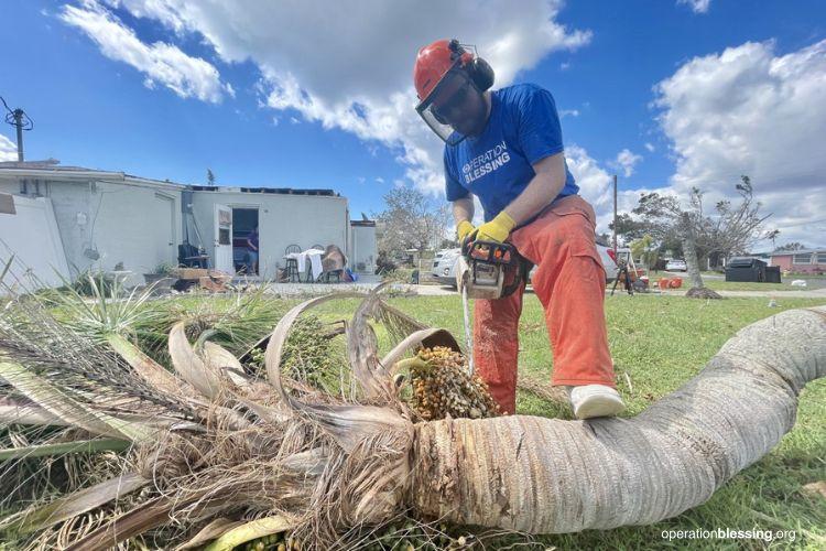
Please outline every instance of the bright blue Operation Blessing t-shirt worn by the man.
[{"label": "bright blue Operation Blessing t-shirt worn by the man", "polygon": [[[562,128],[551,93],[518,84],[490,94],[485,131],[445,147],[447,201],[472,193],[485,208],[485,222],[504,209],[536,173],[533,164],[563,151]],[[575,195],[579,186],[565,165],[565,186],[556,198]]]}]

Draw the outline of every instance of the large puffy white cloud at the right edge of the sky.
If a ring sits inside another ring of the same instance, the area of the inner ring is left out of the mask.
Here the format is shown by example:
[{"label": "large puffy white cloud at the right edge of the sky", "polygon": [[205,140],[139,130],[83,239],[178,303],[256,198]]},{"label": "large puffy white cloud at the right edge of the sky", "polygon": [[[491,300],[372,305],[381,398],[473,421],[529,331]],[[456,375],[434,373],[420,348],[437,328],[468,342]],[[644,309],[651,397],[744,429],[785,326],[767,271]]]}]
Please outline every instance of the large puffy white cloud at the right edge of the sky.
[{"label": "large puffy white cloud at the right edge of the sky", "polygon": [[695,57],[655,87],[660,123],[677,158],[671,184],[698,186],[709,204],[731,197],[740,174],[781,239],[826,245],[826,41],[785,55],[746,43]]}]

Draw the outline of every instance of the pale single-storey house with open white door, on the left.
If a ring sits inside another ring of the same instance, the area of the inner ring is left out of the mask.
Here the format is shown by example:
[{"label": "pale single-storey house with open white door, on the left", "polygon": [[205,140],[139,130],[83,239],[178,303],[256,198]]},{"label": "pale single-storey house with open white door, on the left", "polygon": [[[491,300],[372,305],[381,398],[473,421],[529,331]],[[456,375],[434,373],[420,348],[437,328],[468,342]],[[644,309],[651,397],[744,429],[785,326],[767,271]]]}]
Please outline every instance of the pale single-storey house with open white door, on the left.
[{"label": "pale single-storey house with open white door, on the left", "polygon": [[[0,260],[11,253],[46,283],[87,269],[132,272],[177,264],[184,244],[210,268],[236,273],[259,227],[259,276],[272,279],[290,248],[336,245],[356,271],[372,271],[376,225],[349,219],[333,190],[184,185],[57,161],[0,162]],[[0,270],[2,270],[0,262]]]}]

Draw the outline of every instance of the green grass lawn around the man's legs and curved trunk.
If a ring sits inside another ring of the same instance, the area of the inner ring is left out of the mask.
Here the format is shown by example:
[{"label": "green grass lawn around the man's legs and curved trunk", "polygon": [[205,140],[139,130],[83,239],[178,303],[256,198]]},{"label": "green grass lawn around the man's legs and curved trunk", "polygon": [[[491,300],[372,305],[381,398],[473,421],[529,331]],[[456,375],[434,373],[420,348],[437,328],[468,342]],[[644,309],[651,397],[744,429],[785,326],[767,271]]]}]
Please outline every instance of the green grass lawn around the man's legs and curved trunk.
[{"label": "green grass lawn around the man's legs and curved trunk", "polygon": [[[697,374],[739,328],[779,311],[826,304],[782,300],[768,307],[764,299],[697,301],[683,296],[618,294],[606,303],[611,353],[619,390],[634,415],[653,400]],[[392,299],[390,303],[434,326],[463,335],[458,296]],[[347,315],[355,306],[325,305],[325,316]],[[381,335],[380,335],[381,336]],[[520,372],[547,378],[553,368],[539,300],[525,295],[520,324]],[[520,393],[518,413],[570,418],[566,406]],[[803,485],[826,479],[826,380],[809,383],[801,395],[797,424],[781,444],[737,475],[706,504],[654,526],[536,538],[559,549],[826,549],[826,499],[811,497]],[[729,528],[795,530],[794,542],[760,540],[665,541],[663,530]],[[504,544],[504,542],[502,542]],[[496,545],[494,545],[496,547]],[[543,549],[542,545],[539,549]]]}]

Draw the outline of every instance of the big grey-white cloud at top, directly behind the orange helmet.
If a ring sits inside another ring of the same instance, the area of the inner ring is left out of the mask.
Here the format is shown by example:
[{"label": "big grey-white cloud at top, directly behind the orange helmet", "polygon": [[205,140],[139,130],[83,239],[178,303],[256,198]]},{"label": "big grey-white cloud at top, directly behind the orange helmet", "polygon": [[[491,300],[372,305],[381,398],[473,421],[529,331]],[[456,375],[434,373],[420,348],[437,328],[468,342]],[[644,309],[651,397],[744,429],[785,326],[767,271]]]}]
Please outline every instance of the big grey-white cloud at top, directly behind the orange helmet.
[{"label": "big grey-white cloud at top, directly behind the orange helmet", "polygon": [[508,0],[105,1],[175,33],[199,34],[225,62],[251,61],[270,108],[383,143],[398,151],[407,180],[431,193],[444,187],[442,142],[414,110],[411,74],[421,46],[446,36],[477,44],[502,86],[548,52],[590,40],[555,21],[559,0],[525,0],[519,9]]}]

